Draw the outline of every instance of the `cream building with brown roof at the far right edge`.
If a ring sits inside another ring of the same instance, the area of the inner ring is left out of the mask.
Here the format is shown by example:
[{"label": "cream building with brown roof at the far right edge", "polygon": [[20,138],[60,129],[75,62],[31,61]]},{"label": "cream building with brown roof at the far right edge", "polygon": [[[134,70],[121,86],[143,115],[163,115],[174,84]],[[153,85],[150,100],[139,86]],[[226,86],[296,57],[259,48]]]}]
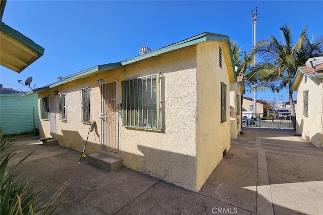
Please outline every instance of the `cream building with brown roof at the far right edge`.
[{"label": "cream building with brown roof at the far right edge", "polygon": [[292,91],[297,91],[296,133],[316,147],[323,147],[323,64],[316,72],[308,66],[298,67]]}]

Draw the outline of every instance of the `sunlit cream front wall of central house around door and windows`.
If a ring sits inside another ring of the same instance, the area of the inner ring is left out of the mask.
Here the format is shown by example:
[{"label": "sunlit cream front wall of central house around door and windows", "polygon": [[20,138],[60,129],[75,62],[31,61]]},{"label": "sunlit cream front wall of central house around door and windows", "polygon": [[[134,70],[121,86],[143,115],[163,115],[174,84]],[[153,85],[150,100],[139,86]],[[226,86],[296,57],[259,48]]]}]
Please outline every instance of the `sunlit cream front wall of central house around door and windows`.
[{"label": "sunlit cream front wall of central house around door and windows", "polygon": [[[122,70],[126,69],[126,74]],[[100,150],[100,85],[118,80],[121,102],[121,81],[160,73],[161,131],[127,129],[119,117],[119,153]],[[90,134],[86,154],[101,152],[123,159],[124,166],[189,190],[196,188],[196,46],[189,46],[150,57],[122,68],[71,81],[55,89],[39,93],[39,98],[54,90],[67,93],[67,122],[57,114],[57,138],[61,145],[81,151],[88,124],[80,122],[80,89],[91,88],[91,116],[97,128]],[[58,101],[58,96],[56,100]],[[57,103],[57,112],[58,112]],[[49,122],[41,121],[41,135],[49,136]],[[212,162],[214,163],[214,162]]]}]

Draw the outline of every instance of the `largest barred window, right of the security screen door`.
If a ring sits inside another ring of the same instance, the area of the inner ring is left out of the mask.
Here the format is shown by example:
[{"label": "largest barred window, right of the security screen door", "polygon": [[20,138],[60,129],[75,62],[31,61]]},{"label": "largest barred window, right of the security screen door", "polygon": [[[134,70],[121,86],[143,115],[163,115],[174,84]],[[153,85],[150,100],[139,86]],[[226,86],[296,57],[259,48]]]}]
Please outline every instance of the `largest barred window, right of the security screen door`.
[{"label": "largest barred window, right of the security screen door", "polygon": [[123,126],[160,130],[159,74],[122,82]]}]

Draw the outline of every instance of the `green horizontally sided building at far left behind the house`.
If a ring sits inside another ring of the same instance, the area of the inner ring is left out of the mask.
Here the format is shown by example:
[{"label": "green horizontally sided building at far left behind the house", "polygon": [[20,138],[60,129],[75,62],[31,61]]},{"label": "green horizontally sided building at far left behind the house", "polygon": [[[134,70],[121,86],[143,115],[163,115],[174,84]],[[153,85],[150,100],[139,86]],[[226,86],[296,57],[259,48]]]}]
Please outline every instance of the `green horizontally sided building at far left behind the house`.
[{"label": "green horizontally sided building at far left behind the house", "polygon": [[32,132],[39,128],[37,94],[0,94],[0,126],[2,134]]}]

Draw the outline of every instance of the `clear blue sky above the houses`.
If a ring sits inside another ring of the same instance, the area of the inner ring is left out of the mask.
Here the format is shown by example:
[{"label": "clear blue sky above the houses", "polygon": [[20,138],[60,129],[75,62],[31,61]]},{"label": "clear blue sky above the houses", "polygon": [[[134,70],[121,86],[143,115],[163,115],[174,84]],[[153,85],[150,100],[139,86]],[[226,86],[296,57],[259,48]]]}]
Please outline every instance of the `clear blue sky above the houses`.
[{"label": "clear blue sky above the houses", "polygon": [[[228,35],[243,50],[252,47],[251,10],[258,7],[257,40],[281,37],[288,24],[296,40],[307,26],[323,34],[322,1],[8,1],[3,22],[45,48],[44,55],[15,73],[1,66],[4,87],[28,91],[18,83],[33,77],[41,87],[86,68],[139,55],[208,31]],[[312,10],[310,10],[312,9]],[[314,12],[313,12],[314,11]],[[316,11],[316,13],[315,13]],[[253,94],[246,94],[252,97]],[[287,101],[288,92],[257,98]]]}]

